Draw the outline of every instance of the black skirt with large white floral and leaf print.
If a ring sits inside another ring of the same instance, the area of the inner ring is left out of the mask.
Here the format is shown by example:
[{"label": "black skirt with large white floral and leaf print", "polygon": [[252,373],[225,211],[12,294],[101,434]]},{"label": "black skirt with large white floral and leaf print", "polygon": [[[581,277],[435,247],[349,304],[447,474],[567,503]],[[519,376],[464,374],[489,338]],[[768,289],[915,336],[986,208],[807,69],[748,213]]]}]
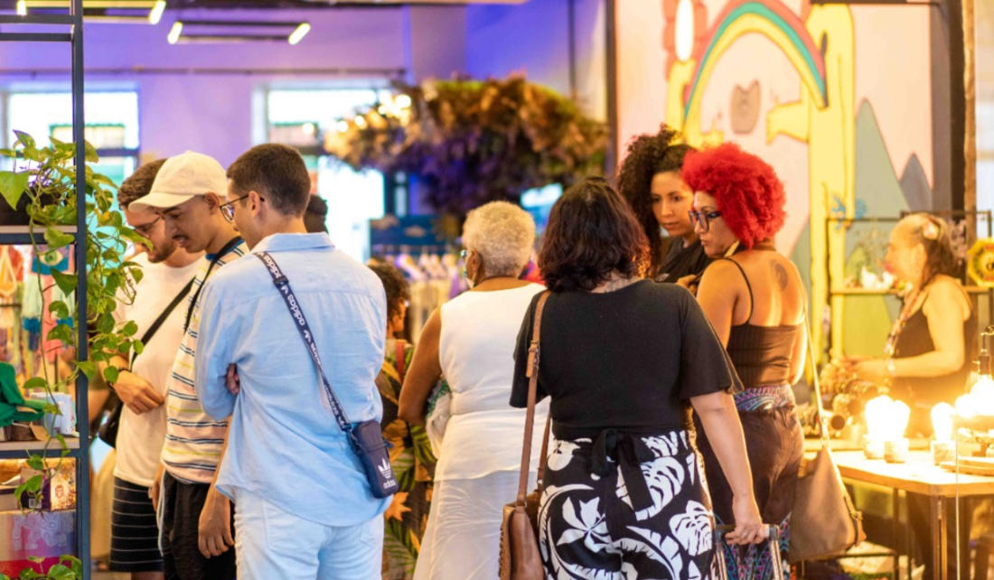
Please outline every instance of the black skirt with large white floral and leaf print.
[{"label": "black skirt with large white floral and leaf print", "polygon": [[693,436],[557,440],[539,512],[552,580],[711,580],[714,515]]}]

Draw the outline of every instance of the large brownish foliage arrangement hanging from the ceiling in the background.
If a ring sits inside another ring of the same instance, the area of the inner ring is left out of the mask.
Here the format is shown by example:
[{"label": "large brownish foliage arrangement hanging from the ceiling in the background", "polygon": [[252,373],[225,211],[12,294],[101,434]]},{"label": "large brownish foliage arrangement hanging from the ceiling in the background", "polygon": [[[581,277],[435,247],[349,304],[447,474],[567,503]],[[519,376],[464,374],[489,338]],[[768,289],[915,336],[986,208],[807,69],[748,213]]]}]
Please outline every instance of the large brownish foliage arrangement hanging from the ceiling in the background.
[{"label": "large brownish foliage arrangement hanging from the ceiling in the background", "polygon": [[523,76],[399,83],[386,102],[325,135],[353,169],[403,171],[440,212],[460,215],[527,190],[603,173],[607,127]]}]

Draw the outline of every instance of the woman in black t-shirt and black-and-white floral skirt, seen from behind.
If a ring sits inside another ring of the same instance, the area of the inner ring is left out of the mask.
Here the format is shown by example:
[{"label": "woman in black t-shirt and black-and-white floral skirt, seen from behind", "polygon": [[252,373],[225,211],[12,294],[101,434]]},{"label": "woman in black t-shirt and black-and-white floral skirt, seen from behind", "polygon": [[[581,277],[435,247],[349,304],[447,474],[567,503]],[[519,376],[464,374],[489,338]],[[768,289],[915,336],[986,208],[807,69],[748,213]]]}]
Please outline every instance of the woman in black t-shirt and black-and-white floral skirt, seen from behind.
[{"label": "woman in black t-shirt and black-and-white floral skirt, seen from behind", "polygon": [[[648,244],[630,208],[589,178],[553,207],[539,267],[538,397],[552,398],[540,543],[549,577],[710,577],[714,518],[694,442],[701,417],[736,490],[730,540],[765,536],[752,496],[740,388],[725,350],[683,288],[640,278]],[[522,322],[511,405],[527,406],[538,297]]]}]

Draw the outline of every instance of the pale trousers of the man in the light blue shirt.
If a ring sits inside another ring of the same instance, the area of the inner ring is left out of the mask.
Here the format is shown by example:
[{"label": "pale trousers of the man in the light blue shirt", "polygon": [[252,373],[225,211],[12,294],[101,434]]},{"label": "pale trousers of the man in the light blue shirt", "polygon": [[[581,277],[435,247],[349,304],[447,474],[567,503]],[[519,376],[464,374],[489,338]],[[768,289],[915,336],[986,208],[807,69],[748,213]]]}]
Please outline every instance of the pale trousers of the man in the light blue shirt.
[{"label": "pale trousers of the man in the light blue shirt", "polygon": [[236,493],[239,580],[376,580],[383,517],[336,527],[303,519],[244,490]]}]

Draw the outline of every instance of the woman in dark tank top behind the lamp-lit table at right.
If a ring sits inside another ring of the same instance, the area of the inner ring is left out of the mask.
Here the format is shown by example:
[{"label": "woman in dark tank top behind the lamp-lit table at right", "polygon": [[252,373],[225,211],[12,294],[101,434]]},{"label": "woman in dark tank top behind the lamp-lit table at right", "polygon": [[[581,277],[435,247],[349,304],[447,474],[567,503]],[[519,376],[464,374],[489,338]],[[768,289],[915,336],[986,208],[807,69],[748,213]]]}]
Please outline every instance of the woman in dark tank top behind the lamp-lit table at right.
[{"label": "woman in dark tank top behind the lamp-lit table at right", "polygon": [[954,403],[965,391],[977,317],[954,278],[958,261],[943,219],[912,214],[899,221],[891,231],[887,267],[911,291],[888,339],[888,358],[857,362],[854,370],[861,378],[890,383],[891,396],[911,406],[911,429],[929,433],[932,405]]}]

